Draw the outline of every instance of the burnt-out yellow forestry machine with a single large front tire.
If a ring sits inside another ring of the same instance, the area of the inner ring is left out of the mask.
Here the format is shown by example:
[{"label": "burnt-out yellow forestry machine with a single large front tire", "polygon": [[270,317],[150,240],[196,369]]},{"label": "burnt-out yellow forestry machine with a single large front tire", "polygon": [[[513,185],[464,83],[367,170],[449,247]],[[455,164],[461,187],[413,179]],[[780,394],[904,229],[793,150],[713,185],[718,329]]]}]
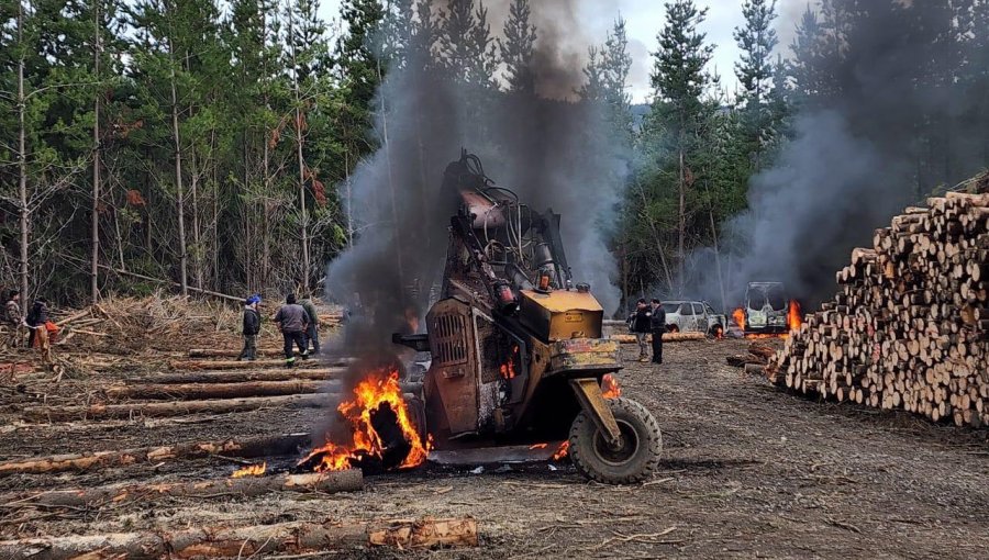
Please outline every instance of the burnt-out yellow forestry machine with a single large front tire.
[{"label": "burnt-out yellow forestry machine with a single large front tire", "polygon": [[590,479],[649,477],[658,424],[641,404],[602,393],[604,376],[622,368],[620,346],[602,338],[590,287],[573,282],[560,216],[496,187],[466,152],[447,167],[443,192],[459,197],[459,210],[440,299],[427,334],[393,337],[432,356],[423,391],[436,448],[566,439]]}]

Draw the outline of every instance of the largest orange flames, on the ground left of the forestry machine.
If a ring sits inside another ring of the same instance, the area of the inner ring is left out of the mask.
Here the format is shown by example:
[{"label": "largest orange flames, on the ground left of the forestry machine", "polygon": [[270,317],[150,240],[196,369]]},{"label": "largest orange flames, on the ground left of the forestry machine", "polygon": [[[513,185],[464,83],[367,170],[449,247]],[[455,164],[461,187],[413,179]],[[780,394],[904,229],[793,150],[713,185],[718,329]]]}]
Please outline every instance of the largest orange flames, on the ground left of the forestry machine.
[{"label": "largest orange flames, on the ground left of the forestry machine", "polygon": [[344,401],[336,407],[341,416],[351,424],[353,441],[345,445],[326,443],[326,445],[313,449],[300,462],[305,462],[312,457],[321,455],[320,462],[313,470],[325,472],[354,468],[359,464],[359,460],[364,457],[382,457],[385,443],[371,425],[371,412],[382,405],[387,405],[395,412],[405,441],[412,446],[409,455],[405,456],[405,459],[398,468],[409,469],[425,462],[433,447],[432,436],[423,443],[422,436],[412,423],[409,407],[402,396],[398,370],[373,372],[354,388],[354,399],[352,401]]}]

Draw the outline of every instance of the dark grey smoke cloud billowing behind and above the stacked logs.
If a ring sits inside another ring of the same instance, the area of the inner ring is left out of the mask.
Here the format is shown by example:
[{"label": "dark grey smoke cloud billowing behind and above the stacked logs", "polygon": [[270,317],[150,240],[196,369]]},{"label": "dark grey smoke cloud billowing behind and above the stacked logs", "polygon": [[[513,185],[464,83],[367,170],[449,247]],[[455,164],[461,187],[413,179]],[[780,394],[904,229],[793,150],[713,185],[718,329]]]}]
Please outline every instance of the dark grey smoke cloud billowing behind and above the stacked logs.
[{"label": "dark grey smoke cloud billowing behind and above the stacked logs", "polygon": [[[989,163],[985,93],[964,78],[986,69],[985,53],[952,33],[960,23],[949,2],[831,3],[843,31],[811,67],[822,91],[804,101],[775,167],[751,180],[748,210],[724,228],[729,309],[747,282],[771,280],[815,305],[875,228]],[[697,251],[688,268],[685,292],[721,302],[714,251]]]}]

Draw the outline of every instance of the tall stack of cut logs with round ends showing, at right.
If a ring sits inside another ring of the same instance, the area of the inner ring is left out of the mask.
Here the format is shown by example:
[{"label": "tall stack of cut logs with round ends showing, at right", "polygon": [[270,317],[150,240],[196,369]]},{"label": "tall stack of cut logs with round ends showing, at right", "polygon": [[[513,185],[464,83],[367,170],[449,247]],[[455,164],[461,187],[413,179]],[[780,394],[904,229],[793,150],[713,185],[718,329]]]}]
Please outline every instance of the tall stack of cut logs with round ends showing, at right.
[{"label": "tall stack of cut logs with round ends showing, at right", "polygon": [[825,399],[989,423],[989,194],[929,199],[873,240],[766,376]]}]

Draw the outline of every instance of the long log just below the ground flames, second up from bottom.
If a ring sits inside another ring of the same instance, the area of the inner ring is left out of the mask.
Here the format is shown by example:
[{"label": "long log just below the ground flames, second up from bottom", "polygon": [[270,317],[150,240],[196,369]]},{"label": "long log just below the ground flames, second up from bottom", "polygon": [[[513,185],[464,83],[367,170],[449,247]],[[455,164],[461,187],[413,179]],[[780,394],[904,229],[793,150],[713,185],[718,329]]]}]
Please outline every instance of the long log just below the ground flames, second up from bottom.
[{"label": "long log just below the ground flames, second up from bottom", "polygon": [[[35,507],[100,507],[105,504],[141,502],[158,497],[208,497],[219,495],[255,497],[271,492],[353,492],[364,488],[359,469],[169,482],[159,484],[126,484],[46,492],[18,492],[0,496],[0,503]],[[0,555],[2,558],[2,555]]]}]

